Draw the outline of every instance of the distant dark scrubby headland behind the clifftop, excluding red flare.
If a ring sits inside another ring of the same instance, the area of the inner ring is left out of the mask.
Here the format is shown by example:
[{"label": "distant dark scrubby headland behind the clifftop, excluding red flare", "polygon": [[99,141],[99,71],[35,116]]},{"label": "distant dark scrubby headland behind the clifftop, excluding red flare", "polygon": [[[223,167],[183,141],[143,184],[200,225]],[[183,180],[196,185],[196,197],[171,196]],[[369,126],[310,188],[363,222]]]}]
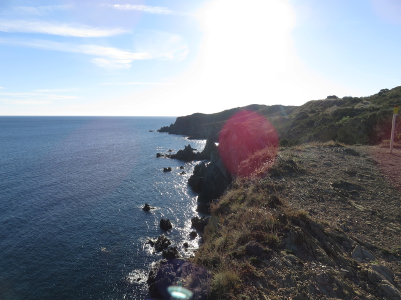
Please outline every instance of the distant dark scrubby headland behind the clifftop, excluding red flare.
[{"label": "distant dark scrubby headland behind the clifftop, excluding red flare", "polygon": [[[212,138],[218,135],[224,123],[235,113],[249,110],[265,116],[276,127],[281,145],[309,141],[338,140],[356,144],[377,144],[389,139],[392,107],[401,102],[401,86],[384,88],[365,97],[328,96],[301,106],[252,104],[213,114],[194,113],[181,116],[174,124],[160,131],[184,134],[193,138]],[[401,121],[398,120],[395,139],[401,139]]]}]

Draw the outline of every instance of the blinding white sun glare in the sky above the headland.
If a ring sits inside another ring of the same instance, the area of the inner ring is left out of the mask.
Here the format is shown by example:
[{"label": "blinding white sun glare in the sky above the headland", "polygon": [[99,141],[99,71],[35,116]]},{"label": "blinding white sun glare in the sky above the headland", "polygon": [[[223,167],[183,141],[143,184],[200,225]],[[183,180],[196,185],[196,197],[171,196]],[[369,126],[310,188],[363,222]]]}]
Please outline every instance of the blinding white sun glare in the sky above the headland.
[{"label": "blinding white sun glare in the sky above the headland", "polygon": [[293,67],[295,14],[287,1],[214,0],[197,17],[204,42],[192,76],[203,99],[213,90],[215,98],[230,98],[230,106],[246,98],[260,102],[266,85]]}]

